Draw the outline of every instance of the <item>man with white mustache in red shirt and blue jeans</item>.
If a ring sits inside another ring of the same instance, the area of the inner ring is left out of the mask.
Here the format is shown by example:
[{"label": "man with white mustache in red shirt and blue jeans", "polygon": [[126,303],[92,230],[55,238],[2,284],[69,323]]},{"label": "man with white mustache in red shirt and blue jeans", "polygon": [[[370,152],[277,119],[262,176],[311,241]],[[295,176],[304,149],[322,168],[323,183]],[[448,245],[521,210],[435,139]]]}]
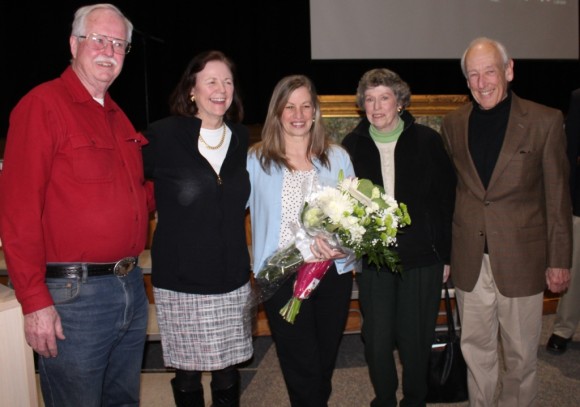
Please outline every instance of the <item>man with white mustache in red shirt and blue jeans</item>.
[{"label": "man with white mustache in red shirt and blue jeans", "polygon": [[78,9],[71,65],[10,116],[0,235],[47,407],[139,405],[146,141],[107,93],[132,29],[113,5]]}]

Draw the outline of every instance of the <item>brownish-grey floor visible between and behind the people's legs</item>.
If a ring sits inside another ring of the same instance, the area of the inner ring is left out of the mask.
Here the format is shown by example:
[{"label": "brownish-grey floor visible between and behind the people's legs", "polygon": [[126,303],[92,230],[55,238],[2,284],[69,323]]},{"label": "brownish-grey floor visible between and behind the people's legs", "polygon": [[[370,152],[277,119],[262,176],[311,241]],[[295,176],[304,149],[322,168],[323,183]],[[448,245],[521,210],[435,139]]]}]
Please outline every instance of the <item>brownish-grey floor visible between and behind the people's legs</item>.
[{"label": "brownish-grey floor visible between and behind the people's legs", "polygon": [[[544,316],[541,345],[538,348],[539,406],[580,406],[580,329],[570,343],[568,352],[554,356],[546,352],[554,315]],[[173,373],[161,366],[159,344],[150,346],[145,355],[142,374],[142,407],[173,406],[169,380]],[[241,369],[243,407],[289,407],[288,397],[275,348],[270,337],[255,341],[254,359]],[[206,405],[211,404],[209,375],[203,376]],[[400,394],[399,394],[400,396]],[[329,407],[368,406],[373,397],[372,386],[363,356],[360,335],[345,335],[333,377],[333,393]],[[436,407],[466,407],[467,402],[433,404]]]}]

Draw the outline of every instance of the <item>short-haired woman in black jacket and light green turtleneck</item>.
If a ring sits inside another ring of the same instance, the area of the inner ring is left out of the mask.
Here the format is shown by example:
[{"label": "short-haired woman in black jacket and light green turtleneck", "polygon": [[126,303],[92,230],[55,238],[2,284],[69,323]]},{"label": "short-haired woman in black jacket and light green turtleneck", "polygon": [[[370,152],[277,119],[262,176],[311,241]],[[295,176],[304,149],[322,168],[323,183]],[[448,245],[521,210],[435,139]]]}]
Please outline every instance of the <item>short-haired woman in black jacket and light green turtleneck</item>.
[{"label": "short-haired woman in black jacket and light green turtleneck", "polygon": [[373,407],[397,405],[395,348],[403,365],[401,405],[425,405],[441,282],[448,275],[455,175],[439,134],[405,110],[410,99],[395,72],[366,72],[357,89],[366,117],[343,140],[357,177],[407,204],[412,221],[398,235],[402,275],[366,261],[357,275]]}]

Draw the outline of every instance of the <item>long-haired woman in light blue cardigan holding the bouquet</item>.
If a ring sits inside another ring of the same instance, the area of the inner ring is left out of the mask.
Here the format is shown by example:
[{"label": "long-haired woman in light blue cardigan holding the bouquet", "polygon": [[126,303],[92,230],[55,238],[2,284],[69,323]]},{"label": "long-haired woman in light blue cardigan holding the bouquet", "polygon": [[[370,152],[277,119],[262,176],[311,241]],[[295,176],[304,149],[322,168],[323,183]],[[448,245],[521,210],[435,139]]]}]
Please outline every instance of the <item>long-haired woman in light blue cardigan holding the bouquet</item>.
[{"label": "long-haired woman in light blue cardigan holding the bouquet", "polygon": [[[291,224],[298,221],[304,204],[304,183],[334,186],[341,170],[345,176],[353,175],[346,151],[326,138],[314,85],[302,75],[283,78],[270,99],[262,140],[248,155],[255,272],[269,255],[292,241]],[[342,256],[321,244],[313,253],[325,260]],[[352,280],[344,261],[335,261],[303,301],[294,324],[279,313],[292,296],[293,278],[264,303],[293,407],[328,403]]]}]

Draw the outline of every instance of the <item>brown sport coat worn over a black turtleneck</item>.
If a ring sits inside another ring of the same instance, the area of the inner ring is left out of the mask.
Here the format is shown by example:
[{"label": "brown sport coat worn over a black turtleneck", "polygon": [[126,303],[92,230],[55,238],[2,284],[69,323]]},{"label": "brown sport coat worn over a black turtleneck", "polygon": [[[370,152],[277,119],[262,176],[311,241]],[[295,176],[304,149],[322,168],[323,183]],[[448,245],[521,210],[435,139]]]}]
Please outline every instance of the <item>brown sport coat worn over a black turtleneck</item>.
[{"label": "brown sport coat worn over a black turtleneck", "polygon": [[572,209],[563,115],[512,93],[505,139],[487,190],[468,147],[473,105],[443,120],[442,135],[457,171],[451,273],[472,291],[485,240],[495,283],[506,297],[546,287],[548,267],[569,268]]}]

